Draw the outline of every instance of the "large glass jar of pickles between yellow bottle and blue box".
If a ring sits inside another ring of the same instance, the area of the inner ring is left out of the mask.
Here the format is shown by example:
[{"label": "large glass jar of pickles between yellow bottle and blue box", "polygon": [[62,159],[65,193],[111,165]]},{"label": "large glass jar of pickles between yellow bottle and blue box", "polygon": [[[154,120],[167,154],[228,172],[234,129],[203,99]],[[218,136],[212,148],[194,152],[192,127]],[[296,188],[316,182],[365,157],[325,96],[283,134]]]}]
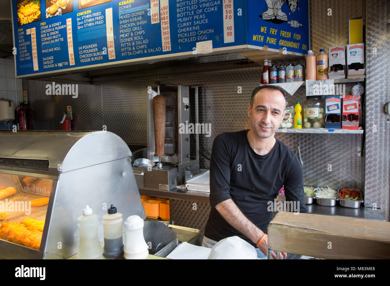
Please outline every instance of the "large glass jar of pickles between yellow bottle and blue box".
[{"label": "large glass jar of pickles between yellow bottle and blue box", "polygon": [[325,109],[321,95],[307,97],[303,109],[303,127],[324,128],[324,125]]}]

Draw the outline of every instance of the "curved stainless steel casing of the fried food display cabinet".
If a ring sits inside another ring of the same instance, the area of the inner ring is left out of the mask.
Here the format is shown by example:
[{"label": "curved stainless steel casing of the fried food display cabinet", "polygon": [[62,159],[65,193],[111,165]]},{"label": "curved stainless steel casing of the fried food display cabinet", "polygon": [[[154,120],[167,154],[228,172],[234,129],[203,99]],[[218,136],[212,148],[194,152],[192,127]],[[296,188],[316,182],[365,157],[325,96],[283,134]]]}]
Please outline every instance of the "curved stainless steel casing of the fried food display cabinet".
[{"label": "curved stainless steel casing of the fried food display cabinet", "polygon": [[72,256],[79,243],[77,218],[85,205],[99,216],[101,242],[101,217],[111,204],[124,218],[133,214],[146,217],[131,167],[131,151],[114,133],[10,133],[0,135],[0,146],[1,174],[53,180],[40,249],[0,239],[1,258]]}]

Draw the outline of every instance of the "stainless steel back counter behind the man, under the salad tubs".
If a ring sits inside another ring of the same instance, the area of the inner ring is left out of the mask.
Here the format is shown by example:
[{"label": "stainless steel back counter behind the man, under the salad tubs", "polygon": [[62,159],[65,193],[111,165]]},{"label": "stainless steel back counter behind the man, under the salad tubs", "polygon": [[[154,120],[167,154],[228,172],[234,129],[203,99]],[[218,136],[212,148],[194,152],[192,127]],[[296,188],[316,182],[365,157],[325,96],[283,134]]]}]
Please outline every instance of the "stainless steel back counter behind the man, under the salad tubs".
[{"label": "stainless steel back counter behind the man, under the salad tubs", "polygon": [[[155,189],[138,188],[141,195],[148,195],[154,197],[174,198],[179,200],[193,200],[195,202],[209,203],[210,193],[199,191],[188,191],[183,189],[173,189],[171,191],[161,191]],[[371,208],[360,207],[358,209],[351,209],[348,207],[341,207],[336,205],[334,207],[326,207],[317,204],[306,205],[307,210],[311,214],[325,214],[330,216],[347,216],[350,218],[375,219],[385,221],[385,218],[380,209],[373,210]],[[275,212],[276,214],[276,212]]]}]

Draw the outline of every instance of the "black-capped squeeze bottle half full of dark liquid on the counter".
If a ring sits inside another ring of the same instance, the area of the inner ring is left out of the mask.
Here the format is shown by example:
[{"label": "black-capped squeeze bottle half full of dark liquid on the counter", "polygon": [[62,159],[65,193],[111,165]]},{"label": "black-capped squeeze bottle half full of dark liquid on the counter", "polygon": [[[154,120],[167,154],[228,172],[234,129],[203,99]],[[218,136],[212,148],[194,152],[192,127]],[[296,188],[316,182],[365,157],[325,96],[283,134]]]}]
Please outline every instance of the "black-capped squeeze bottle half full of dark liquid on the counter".
[{"label": "black-capped squeeze bottle half full of dark liquid on the counter", "polygon": [[104,232],[104,253],[107,258],[118,258],[123,255],[122,214],[111,205],[102,217]]}]

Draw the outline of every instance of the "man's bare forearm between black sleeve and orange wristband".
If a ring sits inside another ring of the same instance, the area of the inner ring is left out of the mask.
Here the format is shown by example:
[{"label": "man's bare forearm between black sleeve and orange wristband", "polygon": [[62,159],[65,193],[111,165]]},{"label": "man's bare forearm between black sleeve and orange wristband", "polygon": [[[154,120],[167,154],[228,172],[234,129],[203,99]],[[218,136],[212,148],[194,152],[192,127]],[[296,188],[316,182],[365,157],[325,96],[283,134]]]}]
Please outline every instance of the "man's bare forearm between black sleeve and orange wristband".
[{"label": "man's bare forearm between black sleeve and orange wristband", "polygon": [[264,234],[241,212],[232,199],[220,202],[215,207],[226,221],[236,230],[257,244]]}]

